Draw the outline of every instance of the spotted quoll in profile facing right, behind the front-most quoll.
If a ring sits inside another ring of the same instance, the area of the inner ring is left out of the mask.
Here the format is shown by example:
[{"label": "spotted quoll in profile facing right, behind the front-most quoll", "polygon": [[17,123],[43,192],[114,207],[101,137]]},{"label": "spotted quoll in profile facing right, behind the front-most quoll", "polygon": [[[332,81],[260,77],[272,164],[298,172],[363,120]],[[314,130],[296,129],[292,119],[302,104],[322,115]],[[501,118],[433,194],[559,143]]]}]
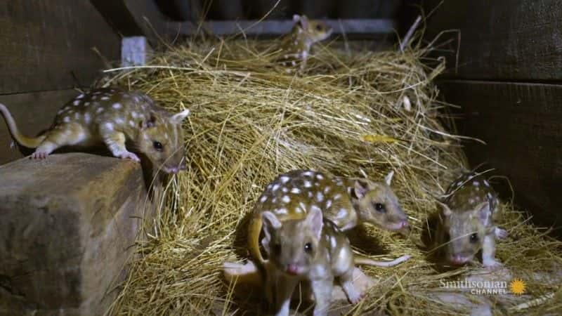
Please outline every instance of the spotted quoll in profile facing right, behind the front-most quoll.
[{"label": "spotted quoll in profile facing right, behind the front-most quoll", "polygon": [[[321,209],[325,218],[341,230],[350,230],[359,223],[372,223],[386,230],[407,232],[407,216],[390,187],[393,172],[384,183],[367,179],[329,176],[312,170],[284,173],[271,182],[254,206],[249,223],[248,246],[251,256],[264,263],[259,249],[263,212],[274,213],[280,221],[299,219],[312,208]],[[391,266],[410,258],[379,263],[357,257],[358,263]]]}]

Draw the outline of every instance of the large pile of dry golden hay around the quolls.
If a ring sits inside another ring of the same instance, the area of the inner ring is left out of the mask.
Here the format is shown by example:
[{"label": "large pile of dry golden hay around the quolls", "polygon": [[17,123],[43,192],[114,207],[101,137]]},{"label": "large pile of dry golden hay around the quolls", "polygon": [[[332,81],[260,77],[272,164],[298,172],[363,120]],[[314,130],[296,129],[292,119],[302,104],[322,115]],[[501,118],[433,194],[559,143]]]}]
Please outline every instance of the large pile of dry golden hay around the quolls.
[{"label": "large pile of dry golden hay around the quolls", "polygon": [[[329,47],[318,48],[299,75],[277,65],[268,41],[191,42],[155,54],[146,67],[107,72],[104,85],[145,91],[169,110],[192,110],[184,123],[189,169],[167,187],[113,314],[258,312],[255,301],[233,298],[221,267],[247,258],[245,220],[263,187],[279,173],[303,168],[374,179],[396,171],[393,188],[414,225],[412,238],[366,227],[353,244],[374,258],[413,258],[397,268],[364,268],[380,282],[352,313],[468,311],[439,301],[434,291],[440,279],[462,279],[478,268],[440,272],[417,242],[436,211],[431,195],[442,193],[466,166],[460,138],[449,132],[449,105],[436,100],[431,82],[443,65],[422,65],[423,48],[348,53]],[[512,237],[499,242],[497,254],[527,283],[521,300],[557,298],[522,311],[561,308],[556,281],[537,279],[556,271],[561,244],[540,237],[521,213],[503,207],[502,225]],[[502,303],[499,311],[513,305]]]}]

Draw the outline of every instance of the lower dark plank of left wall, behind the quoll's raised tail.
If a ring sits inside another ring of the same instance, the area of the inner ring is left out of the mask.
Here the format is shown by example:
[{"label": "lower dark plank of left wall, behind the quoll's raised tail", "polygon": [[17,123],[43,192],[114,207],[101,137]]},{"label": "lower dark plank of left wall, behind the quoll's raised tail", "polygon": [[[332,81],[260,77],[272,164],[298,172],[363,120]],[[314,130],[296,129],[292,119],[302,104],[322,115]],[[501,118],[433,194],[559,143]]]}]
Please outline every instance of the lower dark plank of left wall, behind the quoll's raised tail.
[{"label": "lower dark plank of left wall, behind the quoll's raised tail", "polygon": [[[79,93],[74,89],[22,93],[0,96],[11,111],[22,133],[35,136],[48,129],[55,114],[65,103]],[[0,114],[0,165],[23,157],[17,148],[11,148],[12,138]]]}]

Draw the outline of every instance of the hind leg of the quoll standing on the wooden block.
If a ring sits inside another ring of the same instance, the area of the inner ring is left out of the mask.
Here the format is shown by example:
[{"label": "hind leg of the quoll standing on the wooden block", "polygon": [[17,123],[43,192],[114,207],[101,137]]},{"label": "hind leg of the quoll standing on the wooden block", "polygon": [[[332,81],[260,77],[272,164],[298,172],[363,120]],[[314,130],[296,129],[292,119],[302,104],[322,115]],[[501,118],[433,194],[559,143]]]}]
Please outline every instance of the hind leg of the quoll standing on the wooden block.
[{"label": "hind leg of the quoll standing on the wooden block", "polygon": [[31,159],[45,159],[54,150],[64,147],[77,145],[87,138],[86,131],[79,124],[65,124],[55,126],[48,131],[45,140],[37,147],[30,156]]}]

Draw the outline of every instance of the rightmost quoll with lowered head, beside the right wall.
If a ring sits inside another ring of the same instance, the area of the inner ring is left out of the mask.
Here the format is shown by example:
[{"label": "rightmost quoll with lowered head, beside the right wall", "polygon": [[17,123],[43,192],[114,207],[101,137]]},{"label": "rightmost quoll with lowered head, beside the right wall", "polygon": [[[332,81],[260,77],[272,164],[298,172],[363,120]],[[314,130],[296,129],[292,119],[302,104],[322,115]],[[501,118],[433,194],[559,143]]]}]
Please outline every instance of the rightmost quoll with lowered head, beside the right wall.
[{"label": "rightmost quoll with lowered head, beside the right wall", "polygon": [[495,238],[507,237],[507,231],[494,224],[499,213],[497,193],[484,176],[463,173],[447,188],[440,206],[438,236],[448,261],[462,265],[482,250],[485,267],[501,265],[495,259]]}]

